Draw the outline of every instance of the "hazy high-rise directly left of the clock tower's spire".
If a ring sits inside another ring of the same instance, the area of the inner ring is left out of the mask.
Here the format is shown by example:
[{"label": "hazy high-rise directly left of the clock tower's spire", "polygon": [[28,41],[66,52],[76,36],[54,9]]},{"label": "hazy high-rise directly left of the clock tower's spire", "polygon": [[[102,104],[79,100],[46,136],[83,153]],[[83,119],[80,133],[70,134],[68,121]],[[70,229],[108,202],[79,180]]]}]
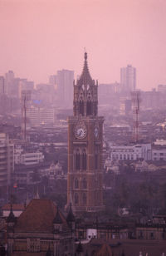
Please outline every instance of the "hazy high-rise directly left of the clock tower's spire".
[{"label": "hazy high-rise directly left of the clock tower's spire", "polygon": [[59,106],[72,107],[74,71],[57,71],[57,101]]}]

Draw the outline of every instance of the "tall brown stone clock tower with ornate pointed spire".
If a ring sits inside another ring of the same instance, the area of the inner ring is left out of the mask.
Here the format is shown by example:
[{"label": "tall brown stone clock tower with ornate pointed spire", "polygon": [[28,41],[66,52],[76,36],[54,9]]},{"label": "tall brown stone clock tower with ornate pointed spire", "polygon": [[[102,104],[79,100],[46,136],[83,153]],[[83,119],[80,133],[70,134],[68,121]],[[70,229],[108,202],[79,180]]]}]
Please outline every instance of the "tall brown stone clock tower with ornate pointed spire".
[{"label": "tall brown stone clock tower with ornate pointed spire", "polygon": [[99,212],[103,205],[103,116],[98,116],[98,83],[84,67],[74,81],[73,116],[68,117],[67,204],[75,213]]}]

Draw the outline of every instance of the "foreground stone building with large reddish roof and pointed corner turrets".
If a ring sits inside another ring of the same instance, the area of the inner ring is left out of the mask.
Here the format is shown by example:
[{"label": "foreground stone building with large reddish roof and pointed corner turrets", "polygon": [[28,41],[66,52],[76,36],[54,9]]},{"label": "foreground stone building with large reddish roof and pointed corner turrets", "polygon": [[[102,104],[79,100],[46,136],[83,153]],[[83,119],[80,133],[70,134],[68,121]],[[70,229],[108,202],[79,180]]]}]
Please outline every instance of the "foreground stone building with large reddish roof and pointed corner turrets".
[{"label": "foreground stone building with large reddish roof and pointed corner turrets", "polygon": [[51,200],[32,199],[17,221],[7,217],[7,255],[74,255],[74,230],[71,209],[65,218]]}]

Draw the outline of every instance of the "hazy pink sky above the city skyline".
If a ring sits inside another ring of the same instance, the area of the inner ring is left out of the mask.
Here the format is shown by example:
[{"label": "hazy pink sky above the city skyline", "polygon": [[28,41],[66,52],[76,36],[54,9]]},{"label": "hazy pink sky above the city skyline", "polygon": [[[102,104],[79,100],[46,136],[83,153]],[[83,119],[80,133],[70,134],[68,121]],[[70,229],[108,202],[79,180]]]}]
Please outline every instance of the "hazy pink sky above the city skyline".
[{"label": "hazy pink sky above the city skyline", "polygon": [[37,82],[59,69],[120,81],[137,68],[137,87],[166,84],[166,0],[0,0],[0,75]]}]

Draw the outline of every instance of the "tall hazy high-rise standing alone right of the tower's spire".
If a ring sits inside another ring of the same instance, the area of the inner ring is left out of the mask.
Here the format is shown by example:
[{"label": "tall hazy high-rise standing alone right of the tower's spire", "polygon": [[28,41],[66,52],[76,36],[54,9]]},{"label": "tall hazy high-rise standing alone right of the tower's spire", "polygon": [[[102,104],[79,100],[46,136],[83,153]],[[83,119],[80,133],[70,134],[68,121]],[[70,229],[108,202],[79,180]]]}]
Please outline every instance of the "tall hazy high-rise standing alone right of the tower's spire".
[{"label": "tall hazy high-rise standing alone right of the tower's spire", "polygon": [[122,91],[129,92],[136,89],[136,68],[128,65],[120,68],[120,84]]}]

